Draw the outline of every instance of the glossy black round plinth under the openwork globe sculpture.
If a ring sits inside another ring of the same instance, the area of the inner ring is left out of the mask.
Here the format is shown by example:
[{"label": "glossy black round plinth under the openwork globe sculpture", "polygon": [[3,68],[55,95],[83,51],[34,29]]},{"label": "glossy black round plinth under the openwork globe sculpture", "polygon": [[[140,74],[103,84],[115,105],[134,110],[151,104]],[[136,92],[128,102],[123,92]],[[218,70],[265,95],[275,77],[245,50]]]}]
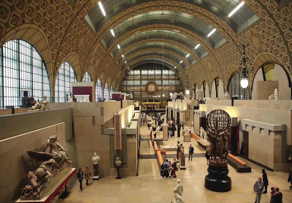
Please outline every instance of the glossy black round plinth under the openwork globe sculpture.
[{"label": "glossy black round plinth under the openwork globe sculpture", "polygon": [[216,163],[209,161],[208,175],[205,177],[205,188],[214,192],[228,192],[231,190],[231,178],[228,176],[227,162]]}]

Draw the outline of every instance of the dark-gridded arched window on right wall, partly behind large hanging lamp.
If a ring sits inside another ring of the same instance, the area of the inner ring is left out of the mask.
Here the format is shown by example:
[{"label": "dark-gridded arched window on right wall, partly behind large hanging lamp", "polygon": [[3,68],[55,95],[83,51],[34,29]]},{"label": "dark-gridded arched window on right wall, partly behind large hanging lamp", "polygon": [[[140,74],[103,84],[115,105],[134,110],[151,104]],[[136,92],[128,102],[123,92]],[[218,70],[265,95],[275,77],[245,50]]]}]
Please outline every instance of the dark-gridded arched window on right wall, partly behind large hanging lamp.
[{"label": "dark-gridded arched window on right wall, partly behind large hanging lamp", "polygon": [[238,99],[247,99],[247,88],[242,88],[240,85],[241,74],[235,73],[229,83],[228,93],[230,98],[232,96],[238,97]]}]

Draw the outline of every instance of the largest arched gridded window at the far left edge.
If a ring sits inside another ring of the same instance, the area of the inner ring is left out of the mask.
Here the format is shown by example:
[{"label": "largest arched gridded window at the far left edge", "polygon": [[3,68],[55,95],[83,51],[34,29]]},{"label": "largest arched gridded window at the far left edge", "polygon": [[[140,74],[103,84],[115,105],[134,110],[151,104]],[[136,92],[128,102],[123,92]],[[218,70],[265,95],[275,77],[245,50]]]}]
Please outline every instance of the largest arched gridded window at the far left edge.
[{"label": "largest arched gridded window at the far left edge", "polygon": [[46,66],[39,52],[27,41],[15,39],[0,49],[0,108],[25,105],[20,97],[51,100]]}]

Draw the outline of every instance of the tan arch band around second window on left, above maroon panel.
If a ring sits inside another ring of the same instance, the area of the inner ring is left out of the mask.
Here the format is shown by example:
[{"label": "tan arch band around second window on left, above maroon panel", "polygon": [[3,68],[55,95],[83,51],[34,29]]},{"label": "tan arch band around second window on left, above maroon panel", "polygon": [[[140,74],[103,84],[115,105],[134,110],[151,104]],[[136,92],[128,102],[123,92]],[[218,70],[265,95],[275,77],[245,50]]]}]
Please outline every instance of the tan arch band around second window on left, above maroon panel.
[{"label": "tan arch band around second window on left, above maroon panel", "polygon": [[[70,52],[68,53],[62,60],[62,63],[67,61],[68,63],[70,63],[73,67],[73,70],[75,71],[75,74],[76,74],[76,79],[78,82],[82,82],[82,77],[81,77],[81,73],[80,73],[80,63],[79,63],[79,56],[76,52]],[[58,72],[59,72],[59,69],[61,67],[61,64],[60,63],[58,65],[58,68],[56,69],[56,72],[55,72],[55,78],[54,78],[54,85],[55,85],[55,81],[56,81],[56,78],[57,78],[57,75],[58,75]],[[84,72],[85,73],[85,72]]]}]

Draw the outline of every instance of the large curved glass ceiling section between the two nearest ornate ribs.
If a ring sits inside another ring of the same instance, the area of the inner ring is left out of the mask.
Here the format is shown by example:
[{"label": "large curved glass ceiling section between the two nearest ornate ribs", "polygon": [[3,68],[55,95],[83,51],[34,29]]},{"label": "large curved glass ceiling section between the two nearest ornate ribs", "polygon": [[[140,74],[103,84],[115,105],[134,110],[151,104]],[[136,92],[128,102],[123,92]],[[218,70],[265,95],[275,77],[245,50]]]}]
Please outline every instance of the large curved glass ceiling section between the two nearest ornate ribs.
[{"label": "large curved glass ceiling section between the two nearest ornate ribs", "polygon": [[214,27],[206,23],[204,20],[196,18],[192,15],[176,11],[150,11],[135,15],[119,23],[112,28],[114,30],[115,37],[112,36],[111,32],[108,32],[103,40],[107,44],[107,47],[109,47],[117,38],[122,37],[131,30],[134,30],[137,27],[154,24],[175,25],[185,28],[186,30],[190,30],[206,40],[213,48],[215,48],[215,44],[223,38],[220,32],[214,32],[210,37],[207,37]]}]

